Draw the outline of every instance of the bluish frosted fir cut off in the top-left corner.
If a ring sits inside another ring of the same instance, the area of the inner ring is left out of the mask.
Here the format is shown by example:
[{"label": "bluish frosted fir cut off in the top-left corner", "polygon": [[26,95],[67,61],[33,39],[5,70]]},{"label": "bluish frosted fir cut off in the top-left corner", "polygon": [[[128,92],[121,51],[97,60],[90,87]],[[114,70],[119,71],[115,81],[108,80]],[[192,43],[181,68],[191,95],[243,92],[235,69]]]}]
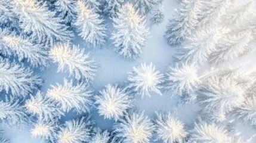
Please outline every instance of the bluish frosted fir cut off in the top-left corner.
[{"label": "bluish frosted fir cut off in the top-left corner", "polygon": [[18,30],[18,15],[14,13],[12,0],[0,1],[0,27],[10,30]]}]

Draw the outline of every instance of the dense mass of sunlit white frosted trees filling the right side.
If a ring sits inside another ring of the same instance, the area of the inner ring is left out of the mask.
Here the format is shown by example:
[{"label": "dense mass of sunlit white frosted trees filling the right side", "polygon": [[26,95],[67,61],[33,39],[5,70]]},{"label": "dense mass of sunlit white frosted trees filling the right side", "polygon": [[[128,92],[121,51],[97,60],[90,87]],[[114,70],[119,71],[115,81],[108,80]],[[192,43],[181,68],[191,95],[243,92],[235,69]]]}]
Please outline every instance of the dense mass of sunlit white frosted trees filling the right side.
[{"label": "dense mass of sunlit white frosted trees filling the right side", "polygon": [[[167,24],[176,66],[166,71],[164,89],[201,107],[186,142],[249,142],[223,125],[235,116],[255,126],[255,73],[233,63],[253,50],[253,6],[254,1],[184,0]],[[202,69],[209,70],[199,73]]]}]

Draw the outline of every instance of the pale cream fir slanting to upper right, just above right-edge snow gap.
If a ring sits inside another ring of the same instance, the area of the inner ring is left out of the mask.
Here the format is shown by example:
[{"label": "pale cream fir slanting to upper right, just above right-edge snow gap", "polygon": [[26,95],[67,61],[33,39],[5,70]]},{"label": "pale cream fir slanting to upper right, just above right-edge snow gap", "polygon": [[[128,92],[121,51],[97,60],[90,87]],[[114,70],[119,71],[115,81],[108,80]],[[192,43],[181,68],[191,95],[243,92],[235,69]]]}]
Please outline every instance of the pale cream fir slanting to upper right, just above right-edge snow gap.
[{"label": "pale cream fir slanting to upper right, just above right-edge snow gap", "polygon": [[227,35],[218,42],[217,49],[211,54],[209,61],[218,66],[236,58],[247,55],[252,48],[249,42],[252,41],[250,31],[239,33],[238,35]]}]

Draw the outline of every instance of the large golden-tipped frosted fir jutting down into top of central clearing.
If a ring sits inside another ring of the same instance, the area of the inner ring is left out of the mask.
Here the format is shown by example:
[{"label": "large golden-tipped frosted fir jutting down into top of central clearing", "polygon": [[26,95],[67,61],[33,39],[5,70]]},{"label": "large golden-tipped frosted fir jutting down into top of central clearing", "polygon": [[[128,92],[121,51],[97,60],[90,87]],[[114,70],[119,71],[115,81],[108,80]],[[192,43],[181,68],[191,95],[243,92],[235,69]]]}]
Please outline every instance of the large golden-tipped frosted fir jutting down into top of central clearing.
[{"label": "large golden-tipped frosted fir jutting down into top of central clearing", "polygon": [[143,19],[129,3],[123,5],[117,17],[113,18],[115,30],[111,39],[119,55],[131,59],[140,57],[150,35]]}]

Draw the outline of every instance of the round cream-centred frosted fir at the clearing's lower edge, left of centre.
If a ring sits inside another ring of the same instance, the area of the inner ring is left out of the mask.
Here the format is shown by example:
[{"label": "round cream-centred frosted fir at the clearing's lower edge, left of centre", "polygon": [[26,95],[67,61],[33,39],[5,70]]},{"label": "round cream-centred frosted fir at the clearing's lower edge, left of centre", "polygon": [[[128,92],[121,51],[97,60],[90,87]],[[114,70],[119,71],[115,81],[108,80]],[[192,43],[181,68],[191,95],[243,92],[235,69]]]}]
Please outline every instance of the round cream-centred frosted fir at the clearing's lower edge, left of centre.
[{"label": "round cream-centred frosted fir at the clearing's lower edge, left of centre", "polygon": [[124,88],[118,85],[106,85],[100,91],[100,95],[95,97],[95,104],[98,105],[98,113],[104,119],[119,120],[124,116],[125,111],[132,107],[131,95]]}]

